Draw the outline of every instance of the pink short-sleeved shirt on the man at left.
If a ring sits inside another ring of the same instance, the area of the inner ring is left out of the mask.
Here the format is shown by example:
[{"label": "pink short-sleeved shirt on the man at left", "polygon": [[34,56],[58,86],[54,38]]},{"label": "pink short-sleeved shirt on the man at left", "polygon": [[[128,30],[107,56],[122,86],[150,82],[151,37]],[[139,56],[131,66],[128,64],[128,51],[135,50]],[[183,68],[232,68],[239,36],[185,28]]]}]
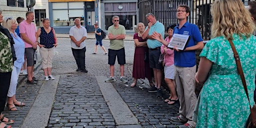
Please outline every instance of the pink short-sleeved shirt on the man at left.
[{"label": "pink short-sleeved shirt on the man at left", "polygon": [[[35,25],[34,23],[27,23],[26,20],[23,20],[22,22],[19,23],[19,33],[25,33],[26,36],[35,43]],[[21,37],[22,38],[22,37]],[[25,48],[27,47],[32,47],[31,44],[27,43],[23,38],[22,40],[25,42]]]}]

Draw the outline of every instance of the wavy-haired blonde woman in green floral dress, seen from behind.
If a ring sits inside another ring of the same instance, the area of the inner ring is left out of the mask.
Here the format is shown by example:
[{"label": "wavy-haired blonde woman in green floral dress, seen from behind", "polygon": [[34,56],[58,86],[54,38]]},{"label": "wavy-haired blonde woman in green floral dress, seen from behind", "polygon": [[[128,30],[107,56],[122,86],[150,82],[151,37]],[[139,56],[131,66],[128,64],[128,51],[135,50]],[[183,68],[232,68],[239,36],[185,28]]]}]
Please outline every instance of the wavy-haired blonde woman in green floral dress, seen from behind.
[{"label": "wavy-haired blonde woman in green floral dress, seen from behind", "polygon": [[251,33],[255,26],[241,0],[215,0],[210,12],[212,39],[200,53],[195,74],[195,80],[203,83],[196,127],[245,127],[249,103],[227,39],[232,39],[239,54],[253,105],[256,37]]}]

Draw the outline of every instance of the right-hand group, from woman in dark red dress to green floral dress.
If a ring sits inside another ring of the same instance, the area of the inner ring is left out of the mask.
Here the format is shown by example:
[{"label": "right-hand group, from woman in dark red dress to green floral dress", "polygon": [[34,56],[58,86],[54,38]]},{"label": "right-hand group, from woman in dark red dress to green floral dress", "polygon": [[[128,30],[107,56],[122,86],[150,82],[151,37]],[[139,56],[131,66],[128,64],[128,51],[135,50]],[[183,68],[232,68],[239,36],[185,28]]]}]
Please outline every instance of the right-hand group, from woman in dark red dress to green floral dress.
[{"label": "right-hand group, from woman in dark red dress to green floral dress", "polygon": [[[210,8],[212,15],[211,40],[205,45],[198,27],[189,23],[190,8],[179,5],[176,9],[178,24],[167,27],[168,36],[164,37],[162,23],[156,21],[152,13],[146,15],[148,24],[138,23],[134,34],[135,53],[133,61],[133,82],[144,78],[148,62],[144,61],[148,51],[149,67],[153,69],[155,84],[148,89],[157,91],[161,96],[161,76],[170,89],[170,96],[164,101],[173,104],[179,100],[179,115],[171,121],[183,122],[179,127],[245,127],[250,114],[249,102],[237,71],[235,58],[228,39],[231,39],[240,56],[253,106],[256,73],[255,7],[249,2],[249,11],[241,0],[215,0]],[[254,15],[254,16],[253,16]],[[251,20],[252,19],[252,20]],[[253,23],[254,21],[254,23]],[[189,35],[190,39],[183,50],[176,46],[167,47],[173,33]],[[255,33],[254,33],[255,34]],[[202,49],[196,72],[195,50]],[[158,63],[160,53],[164,54],[163,63]],[[142,69],[141,69],[142,68]],[[148,78],[149,82],[151,78]],[[203,84],[199,98],[195,95],[195,82]]]}]

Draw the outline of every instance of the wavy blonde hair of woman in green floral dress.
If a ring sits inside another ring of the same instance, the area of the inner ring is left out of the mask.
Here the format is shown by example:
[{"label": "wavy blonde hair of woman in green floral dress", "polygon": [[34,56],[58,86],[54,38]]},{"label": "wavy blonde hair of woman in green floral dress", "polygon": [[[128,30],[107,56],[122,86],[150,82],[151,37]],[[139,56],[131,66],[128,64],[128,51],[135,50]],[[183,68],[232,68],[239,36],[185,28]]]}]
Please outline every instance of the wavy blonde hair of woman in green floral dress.
[{"label": "wavy blonde hair of woman in green floral dress", "polygon": [[211,37],[223,35],[227,39],[233,39],[237,33],[249,37],[255,29],[249,11],[241,0],[215,0],[210,7],[212,15]]}]

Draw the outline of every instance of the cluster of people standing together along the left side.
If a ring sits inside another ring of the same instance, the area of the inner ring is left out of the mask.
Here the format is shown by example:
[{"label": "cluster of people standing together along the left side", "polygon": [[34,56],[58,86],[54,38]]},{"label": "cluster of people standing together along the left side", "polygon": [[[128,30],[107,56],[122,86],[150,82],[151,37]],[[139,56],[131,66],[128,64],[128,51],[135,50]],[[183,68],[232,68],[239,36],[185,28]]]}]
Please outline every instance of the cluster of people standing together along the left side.
[{"label": "cluster of people standing together along the left side", "polygon": [[[42,67],[45,74],[44,80],[54,79],[51,75],[51,59],[53,48],[57,45],[55,31],[49,27],[49,19],[42,20],[43,27],[38,28],[37,32],[33,24],[34,14],[32,11],[26,12],[26,19],[17,17],[18,23],[13,17],[3,19],[0,10],[0,112],[6,106],[10,111],[16,111],[16,106],[24,106],[25,103],[18,101],[15,97],[16,85],[19,72],[26,58],[27,80],[26,83],[36,84],[38,81],[34,77],[34,64],[36,63],[35,50],[37,44],[40,47],[42,57]],[[17,29],[18,28],[18,29]],[[19,33],[16,33],[18,31]],[[38,42],[40,37],[40,42]],[[0,127],[10,128],[14,120],[8,119],[0,113]]]}]

